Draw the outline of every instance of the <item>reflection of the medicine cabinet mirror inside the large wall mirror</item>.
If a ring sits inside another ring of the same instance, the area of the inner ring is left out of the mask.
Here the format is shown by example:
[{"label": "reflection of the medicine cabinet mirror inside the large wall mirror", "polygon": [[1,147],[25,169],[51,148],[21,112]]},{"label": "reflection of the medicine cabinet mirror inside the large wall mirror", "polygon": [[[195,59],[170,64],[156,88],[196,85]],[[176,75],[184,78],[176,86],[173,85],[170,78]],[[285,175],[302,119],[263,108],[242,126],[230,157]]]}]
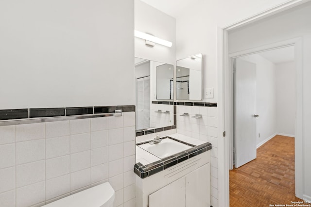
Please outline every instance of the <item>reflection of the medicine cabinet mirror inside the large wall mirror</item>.
[{"label": "reflection of the medicine cabinet mirror inside the large wall mirror", "polygon": [[173,100],[173,65],[156,66],[156,99]]}]

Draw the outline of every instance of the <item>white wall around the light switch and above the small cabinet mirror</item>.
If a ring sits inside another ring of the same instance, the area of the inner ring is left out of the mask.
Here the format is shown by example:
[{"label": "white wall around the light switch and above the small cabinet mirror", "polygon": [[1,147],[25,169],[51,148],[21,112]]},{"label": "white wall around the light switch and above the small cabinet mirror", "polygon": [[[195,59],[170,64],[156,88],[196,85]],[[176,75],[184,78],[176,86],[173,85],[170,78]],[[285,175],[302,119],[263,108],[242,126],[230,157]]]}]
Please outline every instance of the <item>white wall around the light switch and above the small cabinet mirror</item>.
[{"label": "white wall around the light switch and above the small cabinet mirror", "polygon": [[217,29],[254,16],[287,0],[217,0],[196,1],[187,12],[176,17],[176,59],[203,53],[203,89],[214,88],[214,98],[204,102],[217,102]]}]

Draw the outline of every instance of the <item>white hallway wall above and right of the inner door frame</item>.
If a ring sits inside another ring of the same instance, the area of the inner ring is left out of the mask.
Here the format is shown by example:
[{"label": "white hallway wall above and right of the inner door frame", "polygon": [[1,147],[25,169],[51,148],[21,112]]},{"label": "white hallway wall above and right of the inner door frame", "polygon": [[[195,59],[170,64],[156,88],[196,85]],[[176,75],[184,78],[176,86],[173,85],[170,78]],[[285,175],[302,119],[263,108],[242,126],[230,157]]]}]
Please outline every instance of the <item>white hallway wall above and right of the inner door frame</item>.
[{"label": "white hallway wall above and right of the inner door frame", "polygon": [[[311,3],[297,6],[285,14],[280,13],[257,23],[229,32],[229,53],[255,48],[295,37],[302,37],[302,143],[303,143],[303,194],[311,200]],[[268,32],[262,32],[268,31]],[[251,38],[250,38],[251,37]],[[306,161],[304,161],[306,160]]]}]

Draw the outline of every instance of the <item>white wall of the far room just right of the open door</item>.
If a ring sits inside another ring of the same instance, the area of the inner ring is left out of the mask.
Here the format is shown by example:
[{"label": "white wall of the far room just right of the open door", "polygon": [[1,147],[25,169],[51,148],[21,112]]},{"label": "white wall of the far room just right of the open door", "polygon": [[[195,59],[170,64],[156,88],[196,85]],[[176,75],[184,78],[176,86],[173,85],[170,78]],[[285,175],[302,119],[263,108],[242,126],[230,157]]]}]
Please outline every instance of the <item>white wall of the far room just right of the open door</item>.
[{"label": "white wall of the far room just right of the open door", "polygon": [[[256,64],[257,142],[260,144],[276,133],[276,69],[275,64],[259,54],[241,57]],[[260,137],[259,137],[260,133]]]}]

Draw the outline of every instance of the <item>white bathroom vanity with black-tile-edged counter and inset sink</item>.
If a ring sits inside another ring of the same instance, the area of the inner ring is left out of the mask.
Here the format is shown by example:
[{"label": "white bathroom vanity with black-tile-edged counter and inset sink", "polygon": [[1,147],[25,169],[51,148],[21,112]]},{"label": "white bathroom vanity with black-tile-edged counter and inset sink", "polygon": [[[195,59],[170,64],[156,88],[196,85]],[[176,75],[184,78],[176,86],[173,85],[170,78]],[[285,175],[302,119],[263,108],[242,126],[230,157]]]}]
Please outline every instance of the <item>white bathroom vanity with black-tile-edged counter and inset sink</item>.
[{"label": "white bathroom vanity with black-tile-edged counter and inset sink", "polygon": [[136,147],[137,207],[210,206],[210,143],[172,134]]}]

